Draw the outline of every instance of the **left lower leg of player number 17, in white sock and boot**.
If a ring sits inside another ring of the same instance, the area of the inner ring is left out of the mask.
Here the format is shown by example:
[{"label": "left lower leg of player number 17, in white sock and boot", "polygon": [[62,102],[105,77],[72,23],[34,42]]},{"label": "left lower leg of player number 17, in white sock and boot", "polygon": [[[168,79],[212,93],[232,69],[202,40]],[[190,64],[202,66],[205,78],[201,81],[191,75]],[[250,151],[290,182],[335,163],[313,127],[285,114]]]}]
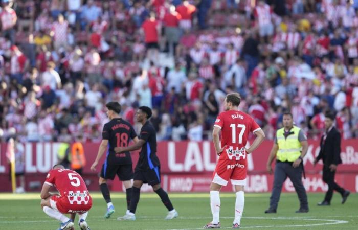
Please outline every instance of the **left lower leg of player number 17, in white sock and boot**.
[{"label": "left lower leg of player number 17, in white sock and boot", "polygon": [[210,207],[213,220],[204,228],[220,228],[220,189],[221,185],[211,182],[210,184]]}]

